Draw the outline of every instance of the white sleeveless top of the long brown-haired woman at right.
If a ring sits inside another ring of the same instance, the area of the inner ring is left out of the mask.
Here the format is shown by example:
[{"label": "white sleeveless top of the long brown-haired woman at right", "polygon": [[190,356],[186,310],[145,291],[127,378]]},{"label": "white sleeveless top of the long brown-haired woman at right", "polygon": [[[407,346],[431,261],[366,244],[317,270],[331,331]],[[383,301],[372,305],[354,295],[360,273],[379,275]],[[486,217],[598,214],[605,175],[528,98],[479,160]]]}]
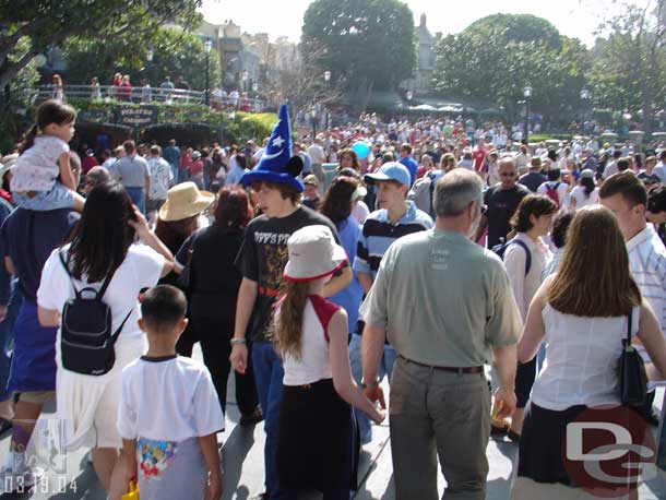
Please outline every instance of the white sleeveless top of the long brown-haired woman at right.
[{"label": "white sleeveless top of the long brown-haired woman at right", "polygon": [[[631,334],[639,330],[640,308],[633,309]],[[546,409],[575,405],[619,405],[618,362],[627,317],[583,318],[546,305],[546,360],[532,389],[531,401]]]}]

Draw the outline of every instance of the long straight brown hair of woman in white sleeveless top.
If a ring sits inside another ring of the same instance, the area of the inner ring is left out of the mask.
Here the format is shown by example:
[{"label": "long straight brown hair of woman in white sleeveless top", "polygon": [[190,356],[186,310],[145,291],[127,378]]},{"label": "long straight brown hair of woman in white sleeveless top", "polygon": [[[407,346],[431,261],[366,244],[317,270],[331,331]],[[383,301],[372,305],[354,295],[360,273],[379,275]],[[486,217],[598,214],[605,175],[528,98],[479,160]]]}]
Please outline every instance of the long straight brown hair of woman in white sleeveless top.
[{"label": "long straight brown hair of woman in white sleeveless top", "polygon": [[641,303],[625,238],[608,209],[595,205],[576,212],[547,300],[560,312],[586,318],[625,316]]}]

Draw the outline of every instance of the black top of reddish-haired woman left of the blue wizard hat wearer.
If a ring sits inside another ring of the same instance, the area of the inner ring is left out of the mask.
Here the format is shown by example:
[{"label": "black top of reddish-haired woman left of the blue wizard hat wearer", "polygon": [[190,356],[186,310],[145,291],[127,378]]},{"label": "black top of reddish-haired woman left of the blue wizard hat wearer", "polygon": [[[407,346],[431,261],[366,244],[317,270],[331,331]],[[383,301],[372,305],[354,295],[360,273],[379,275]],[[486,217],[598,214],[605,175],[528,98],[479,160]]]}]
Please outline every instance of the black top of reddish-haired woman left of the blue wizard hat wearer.
[{"label": "black top of reddish-haired woman left of the blue wizard hat wearer", "polygon": [[241,243],[241,229],[211,226],[192,234],[180,247],[176,260],[181,265],[189,262],[188,295],[193,318],[214,319],[233,328],[242,279],[235,264]]}]

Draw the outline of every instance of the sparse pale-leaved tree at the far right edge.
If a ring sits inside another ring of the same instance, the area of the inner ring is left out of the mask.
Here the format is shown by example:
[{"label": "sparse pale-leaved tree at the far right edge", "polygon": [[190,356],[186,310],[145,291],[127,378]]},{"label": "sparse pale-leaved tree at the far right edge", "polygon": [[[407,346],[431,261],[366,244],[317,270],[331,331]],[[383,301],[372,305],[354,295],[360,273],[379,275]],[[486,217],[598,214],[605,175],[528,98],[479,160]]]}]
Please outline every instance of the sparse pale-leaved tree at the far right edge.
[{"label": "sparse pale-leaved tree at the far right edge", "polygon": [[596,40],[588,73],[594,104],[642,116],[647,132],[666,98],[665,3],[629,5],[602,24],[606,36]]}]

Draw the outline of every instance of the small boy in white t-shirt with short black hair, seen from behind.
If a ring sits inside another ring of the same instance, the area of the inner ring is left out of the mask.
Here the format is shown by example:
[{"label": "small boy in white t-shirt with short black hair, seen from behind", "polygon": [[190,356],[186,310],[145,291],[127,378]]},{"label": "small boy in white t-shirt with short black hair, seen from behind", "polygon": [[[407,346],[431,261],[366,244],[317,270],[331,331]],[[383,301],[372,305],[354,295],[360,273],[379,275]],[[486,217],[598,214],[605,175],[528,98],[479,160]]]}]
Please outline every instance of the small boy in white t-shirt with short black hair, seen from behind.
[{"label": "small boy in white t-shirt with short black hair, seen from behind", "polygon": [[182,291],[159,285],[145,293],[139,326],[148,352],[122,370],[118,431],[123,485],[139,478],[141,500],[217,500],[222,468],[216,433],[224,415],[207,368],[176,354],[188,324]]}]

